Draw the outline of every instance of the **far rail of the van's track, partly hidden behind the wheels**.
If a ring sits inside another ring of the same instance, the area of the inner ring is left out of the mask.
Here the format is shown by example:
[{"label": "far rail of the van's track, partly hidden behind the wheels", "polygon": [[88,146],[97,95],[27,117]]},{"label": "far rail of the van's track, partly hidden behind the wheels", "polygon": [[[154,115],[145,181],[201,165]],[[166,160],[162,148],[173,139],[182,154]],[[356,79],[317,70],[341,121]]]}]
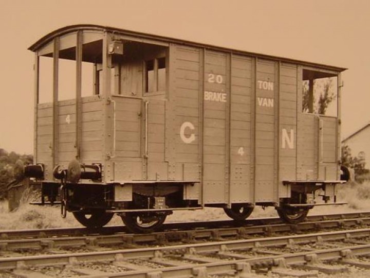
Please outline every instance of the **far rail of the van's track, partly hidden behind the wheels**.
[{"label": "far rail of the van's track, partly hidden behind the wheels", "polygon": [[[309,215],[307,222],[300,223],[298,227],[303,225],[311,225],[310,222],[324,221],[324,220],[338,220],[338,219],[358,219],[370,218],[370,211],[340,213],[340,214],[326,214],[326,215]],[[220,220],[220,221],[199,221],[199,222],[172,222],[163,224],[164,231],[178,230],[191,230],[199,228],[222,228],[222,227],[250,227],[251,225],[271,225],[282,223],[279,217],[267,218],[250,218],[243,222],[235,222],[233,220]],[[288,231],[288,230],[286,230]],[[127,233],[124,225],[107,226],[100,229],[87,229],[87,228],[52,228],[52,229],[30,229],[30,230],[3,230],[0,231],[0,239],[12,238],[46,238],[55,236],[82,236],[82,235],[101,235],[101,234],[115,234]]]}]

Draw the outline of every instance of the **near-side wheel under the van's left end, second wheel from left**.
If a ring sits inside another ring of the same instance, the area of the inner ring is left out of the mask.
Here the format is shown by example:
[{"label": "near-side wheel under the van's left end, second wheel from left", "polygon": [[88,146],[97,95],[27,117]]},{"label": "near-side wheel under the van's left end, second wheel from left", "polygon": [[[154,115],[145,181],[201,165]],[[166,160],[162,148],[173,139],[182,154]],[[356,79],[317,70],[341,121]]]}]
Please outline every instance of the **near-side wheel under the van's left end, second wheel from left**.
[{"label": "near-side wheel under the van's left end, second wheel from left", "polygon": [[130,212],[121,215],[127,229],[133,233],[152,233],[163,224],[166,214]]}]

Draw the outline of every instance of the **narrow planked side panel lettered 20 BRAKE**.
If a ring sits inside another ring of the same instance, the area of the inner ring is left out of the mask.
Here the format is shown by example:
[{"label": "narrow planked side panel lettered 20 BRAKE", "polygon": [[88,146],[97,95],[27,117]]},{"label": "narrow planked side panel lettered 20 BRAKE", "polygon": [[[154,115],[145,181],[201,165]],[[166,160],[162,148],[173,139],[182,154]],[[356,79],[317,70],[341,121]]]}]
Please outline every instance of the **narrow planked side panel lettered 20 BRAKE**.
[{"label": "narrow planked side panel lettered 20 BRAKE", "polygon": [[[228,98],[227,55],[216,51],[206,51],[204,91],[212,94],[225,93]],[[218,79],[217,79],[218,78]],[[225,202],[226,151],[226,120],[227,102],[204,99],[203,117],[203,186],[206,203]]]}]

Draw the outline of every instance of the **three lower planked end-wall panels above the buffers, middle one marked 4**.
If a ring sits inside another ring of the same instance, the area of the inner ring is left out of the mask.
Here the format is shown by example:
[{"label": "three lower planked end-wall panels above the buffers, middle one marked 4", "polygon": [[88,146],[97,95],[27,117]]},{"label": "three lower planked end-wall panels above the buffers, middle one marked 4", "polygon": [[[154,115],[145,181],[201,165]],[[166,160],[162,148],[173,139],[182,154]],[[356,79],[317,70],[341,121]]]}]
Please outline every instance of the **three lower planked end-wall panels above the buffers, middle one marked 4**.
[{"label": "three lower planked end-wall panels above the buffers, middle one marked 4", "polygon": [[[67,167],[76,159],[76,101],[58,102],[58,161],[56,164]],[[81,163],[102,162],[102,100],[98,97],[85,97],[82,100],[81,123]],[[52,108],[48,103],[38,105],[38,162],[47,165],[46,179],[52,179]]]}]

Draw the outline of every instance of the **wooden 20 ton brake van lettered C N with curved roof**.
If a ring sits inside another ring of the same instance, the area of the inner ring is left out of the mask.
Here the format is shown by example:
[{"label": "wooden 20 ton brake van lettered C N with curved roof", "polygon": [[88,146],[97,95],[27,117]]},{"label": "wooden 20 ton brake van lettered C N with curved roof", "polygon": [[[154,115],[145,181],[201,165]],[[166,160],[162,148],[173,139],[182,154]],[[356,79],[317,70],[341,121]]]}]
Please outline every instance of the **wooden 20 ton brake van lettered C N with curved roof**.
[{"label": "wooden 20 ton brake van lettered C N with curved roof", "polygon": [[[345,68],[97,25],[55,30],[34,60],[42,203],[133,232],[175,210],[255,205],[289,223],[336,203]],[[342,175],[343,176],[343,175]]]}]

